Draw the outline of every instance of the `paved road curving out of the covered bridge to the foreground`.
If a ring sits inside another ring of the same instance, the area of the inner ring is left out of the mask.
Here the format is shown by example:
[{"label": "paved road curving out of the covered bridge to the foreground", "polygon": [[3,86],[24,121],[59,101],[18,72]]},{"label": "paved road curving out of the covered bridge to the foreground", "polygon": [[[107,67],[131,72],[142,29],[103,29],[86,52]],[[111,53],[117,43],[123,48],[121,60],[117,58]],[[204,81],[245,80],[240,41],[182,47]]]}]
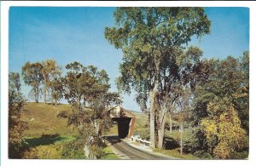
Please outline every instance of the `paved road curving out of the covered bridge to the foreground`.
[{"label": "paved road curving out of the covered bridge to the foreground", "polygon": [[149,154],[147,152],[142,152],[133,148],[132,146],[127,145],[122,140],[119,139],[118,136],[107,136],[108,141],[113,146],[113,149],[117,151],[121,157],[124,159],[149,159],[149,160],[160,160],[166,159],[164,157],[155,156],[153,154]]}]

